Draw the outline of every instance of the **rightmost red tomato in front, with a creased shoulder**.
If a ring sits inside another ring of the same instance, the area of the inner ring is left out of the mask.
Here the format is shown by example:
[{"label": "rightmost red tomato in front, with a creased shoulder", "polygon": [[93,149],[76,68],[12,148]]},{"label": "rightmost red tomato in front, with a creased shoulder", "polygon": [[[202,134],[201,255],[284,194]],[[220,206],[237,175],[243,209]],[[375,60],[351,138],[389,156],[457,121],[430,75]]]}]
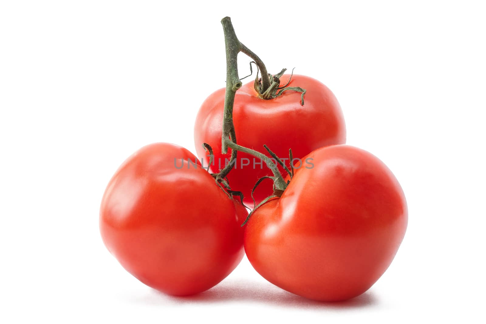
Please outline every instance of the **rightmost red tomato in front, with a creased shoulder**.
[{"label": "rightmost red tomato in front, with a creased shoulder", "polygon": [[[257,208],[244,248],[271,283],[319,301],[368,290],[405,235],[408,211],[392,172],[364,150],[335,145],[310,153],[282,196]],[[309,169],[307,169],[309,168]]]}]

